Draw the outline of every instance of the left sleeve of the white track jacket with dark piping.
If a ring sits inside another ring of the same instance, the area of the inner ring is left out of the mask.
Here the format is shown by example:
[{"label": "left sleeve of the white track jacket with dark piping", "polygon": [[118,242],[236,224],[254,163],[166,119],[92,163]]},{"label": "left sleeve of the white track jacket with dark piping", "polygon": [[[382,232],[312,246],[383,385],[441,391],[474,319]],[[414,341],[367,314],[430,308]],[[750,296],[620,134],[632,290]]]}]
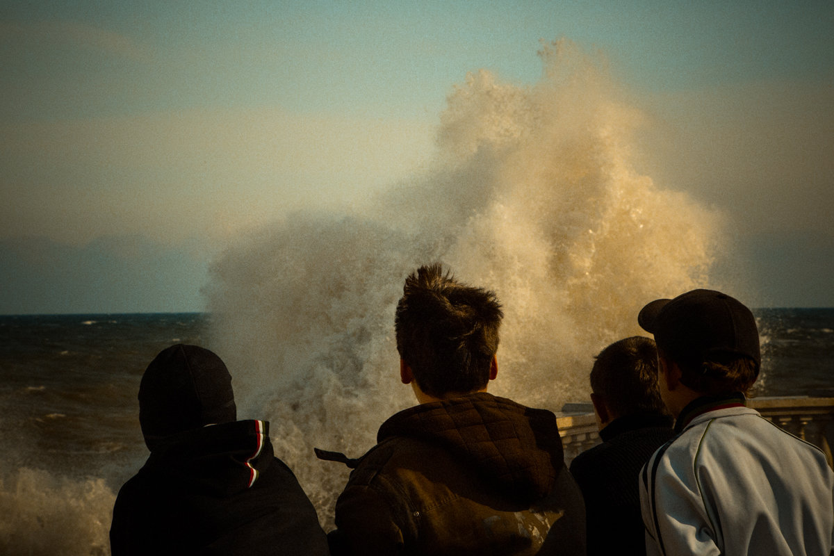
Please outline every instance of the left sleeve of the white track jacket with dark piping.
[{"label": "left sleeve of the white track jacket with dark piping", "polygon": [[676,469],[670,456],[661,448],[641,472],[646,554],[720,556],[691,459],[683,458]]}]

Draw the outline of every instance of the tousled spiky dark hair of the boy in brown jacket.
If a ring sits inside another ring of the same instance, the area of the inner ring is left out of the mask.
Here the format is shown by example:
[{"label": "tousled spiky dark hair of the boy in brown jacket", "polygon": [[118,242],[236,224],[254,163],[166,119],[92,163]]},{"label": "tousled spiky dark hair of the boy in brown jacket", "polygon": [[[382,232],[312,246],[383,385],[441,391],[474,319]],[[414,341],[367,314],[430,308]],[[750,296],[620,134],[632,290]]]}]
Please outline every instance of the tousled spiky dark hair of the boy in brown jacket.
[{"label": "tousled spiky dark hair of the boy in brown jacket", "polygon": [[399,357],[430,396],[475,392],[490,380],[503,317],[495,293],[458,282],[440,263],[422,266],[397,303]]}]

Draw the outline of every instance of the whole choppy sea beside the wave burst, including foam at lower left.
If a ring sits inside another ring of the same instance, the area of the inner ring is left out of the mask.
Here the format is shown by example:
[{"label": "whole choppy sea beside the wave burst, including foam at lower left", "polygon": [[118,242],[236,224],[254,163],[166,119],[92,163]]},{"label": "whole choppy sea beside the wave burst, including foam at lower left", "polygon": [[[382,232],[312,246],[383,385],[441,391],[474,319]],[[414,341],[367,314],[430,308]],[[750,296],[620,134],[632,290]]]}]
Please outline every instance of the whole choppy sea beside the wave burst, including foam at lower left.
[{"label": "whole choppy sea beside the wave burst, including foam at lower left", "polygon": [[[834,309],[756,316],[757,394],[834,396]],[[199,313],[0,317],[0,553],[109,553],[115,493],[147,456],[139,379],[207,329]]]}]

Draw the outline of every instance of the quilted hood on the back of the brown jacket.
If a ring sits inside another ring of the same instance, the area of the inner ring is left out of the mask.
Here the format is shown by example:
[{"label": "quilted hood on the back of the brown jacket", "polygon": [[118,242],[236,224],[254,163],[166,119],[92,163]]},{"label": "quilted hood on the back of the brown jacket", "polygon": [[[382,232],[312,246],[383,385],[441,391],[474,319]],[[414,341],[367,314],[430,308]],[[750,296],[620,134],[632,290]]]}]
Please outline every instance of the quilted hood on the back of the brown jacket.
[{"label": "quilted hood on the back of the brown jacket", "polygon": [[468,459],[484,478],[525,501],[550,492],[564,468],[555,415],[489,393],[425,403],[390,417],[377,442],[408,437]]}]

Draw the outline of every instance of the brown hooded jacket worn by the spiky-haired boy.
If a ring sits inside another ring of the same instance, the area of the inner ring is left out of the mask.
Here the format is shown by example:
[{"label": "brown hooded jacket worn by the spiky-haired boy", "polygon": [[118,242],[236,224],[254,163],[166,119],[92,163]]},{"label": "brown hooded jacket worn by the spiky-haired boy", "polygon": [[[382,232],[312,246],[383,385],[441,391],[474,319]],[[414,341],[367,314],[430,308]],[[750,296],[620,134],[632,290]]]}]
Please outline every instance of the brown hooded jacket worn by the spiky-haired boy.
[{"label": "brown hooded jacket worn by the spiky-haired boy", "polygon": [[584,554],[553,413],[489,393],[389,418],[336,503],[335,554]]}]

